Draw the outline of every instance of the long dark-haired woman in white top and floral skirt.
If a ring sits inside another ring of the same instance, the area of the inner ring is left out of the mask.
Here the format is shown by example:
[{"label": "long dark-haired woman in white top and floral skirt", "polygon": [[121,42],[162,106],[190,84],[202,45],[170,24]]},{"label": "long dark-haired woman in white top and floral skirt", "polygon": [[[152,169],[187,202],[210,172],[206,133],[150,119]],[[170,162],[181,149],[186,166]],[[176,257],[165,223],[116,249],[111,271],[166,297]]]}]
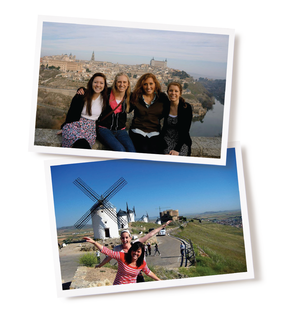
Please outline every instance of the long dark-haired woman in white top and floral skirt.
[{"label": "long dark-haired woman in white top and floral skirt", "polygon": [[95,73],[87,84],[85,95],[75,95],[66,120],[57,135],[62,147],[92,149],[96,140],[96,120],[106,105],[107,84],[103,73]]}]

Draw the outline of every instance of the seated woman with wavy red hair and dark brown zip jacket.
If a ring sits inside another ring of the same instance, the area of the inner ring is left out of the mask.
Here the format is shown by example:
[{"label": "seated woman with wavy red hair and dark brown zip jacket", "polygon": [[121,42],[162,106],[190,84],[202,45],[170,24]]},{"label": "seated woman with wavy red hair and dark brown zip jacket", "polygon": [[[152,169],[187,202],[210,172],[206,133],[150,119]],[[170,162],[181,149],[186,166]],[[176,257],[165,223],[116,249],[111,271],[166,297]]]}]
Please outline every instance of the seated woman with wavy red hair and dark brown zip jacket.
[{"label": "seated woman with wavy red hair and dark brown zip jacket", "polygon": [[137,152],[162,154],[163,139],[160,120],[169,111],[167,95],[161,92],[161,85],[155,75],[143,74],[135,86],[131,96],[134,105],[134,118],[129,135]]}]

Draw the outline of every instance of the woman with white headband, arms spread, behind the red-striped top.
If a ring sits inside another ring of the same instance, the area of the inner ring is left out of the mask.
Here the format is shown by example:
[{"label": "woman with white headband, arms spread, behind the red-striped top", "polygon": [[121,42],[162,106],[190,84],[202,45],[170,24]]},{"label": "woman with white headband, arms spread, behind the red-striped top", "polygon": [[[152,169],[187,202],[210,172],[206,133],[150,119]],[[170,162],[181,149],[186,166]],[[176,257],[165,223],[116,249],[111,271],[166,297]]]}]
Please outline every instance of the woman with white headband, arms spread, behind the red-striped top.
[{"label": "woman with white headband, arms spread, behind the red-striped top", "polygon": [[[144,235],[143,237],[137,239],[134,241],[134,243],[136,243],[137,241],[141,242],[141,243],[145,243],[149,238],[151,238],[154,234],[158,233],[160,230],[162,230],[163,228],[165,228],[167,225],[169,225],[172,221],[168,221],[164,224],[162,224],[159,228],[156,228],[154,230],[152,230],[151,232],[149,232],[148,234]],[[120,234],[120,240],[122,241],[121,245],[117,245],[113,248],[113,251],[120,251],[120,252],[125,252],[127,253],[128,250],[131,247],[131,241],[132,237],[130,234],[129,230],[123,230],[121,231]],[[102,266],[104,266],[105,264],[107,264],[112,258],[110,256],[107,256],[99,265],[97,265],[95,268],[100,268]]]}]

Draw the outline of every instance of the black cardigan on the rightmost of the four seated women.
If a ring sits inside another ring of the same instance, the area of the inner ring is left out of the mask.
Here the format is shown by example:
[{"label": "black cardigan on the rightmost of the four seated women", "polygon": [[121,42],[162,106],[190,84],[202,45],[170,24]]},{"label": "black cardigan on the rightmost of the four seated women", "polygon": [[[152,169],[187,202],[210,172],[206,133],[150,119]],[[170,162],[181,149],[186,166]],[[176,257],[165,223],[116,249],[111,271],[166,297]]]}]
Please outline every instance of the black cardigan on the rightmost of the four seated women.
[{"label": "black cardigan on the rightmost of the four seated women", "polygon": [[[178,140],[174,150],[180,151],[182,148],[182,145],[186,144],[188,146],[187,156],[190,156],[192,140],[189,135],[189,130],[190,130],[191,122],[192,122],[192,107],[189,103],[187,103],[187,102],[185,102],[185,103],[187,105],[186,108],[183,107],[182,101],[180,101],[179,105],[178,105],[178,123],[175,126],[175,128],[179,132],[179,140]],[[163,136],[163,138],[164,138],[167,128],[168,128],[167,120],[168,120],[169,112],[164,117],[163,128],[161,131],[161,135]]]}]

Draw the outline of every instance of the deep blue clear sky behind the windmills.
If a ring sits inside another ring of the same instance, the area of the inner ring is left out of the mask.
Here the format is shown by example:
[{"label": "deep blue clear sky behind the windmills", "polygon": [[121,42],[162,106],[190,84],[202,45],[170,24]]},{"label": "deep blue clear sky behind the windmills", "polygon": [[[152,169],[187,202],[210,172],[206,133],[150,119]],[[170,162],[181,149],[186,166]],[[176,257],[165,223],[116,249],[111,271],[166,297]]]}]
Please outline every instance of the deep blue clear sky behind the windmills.
[{"label": "deep blue clear sky behind the windmills", "polygon": [[[235,149],[226,166],[145,160],[111,160],[51,166],[57,227],[73,225],[94,204],[73,181],[80,177],[101,195],[120,177],[125,185],[110,202],[117,211],[135,206],[137,219],[159,206],[179,214],[240,209]],[[163,210],[161,210],[163,211]]]}]

